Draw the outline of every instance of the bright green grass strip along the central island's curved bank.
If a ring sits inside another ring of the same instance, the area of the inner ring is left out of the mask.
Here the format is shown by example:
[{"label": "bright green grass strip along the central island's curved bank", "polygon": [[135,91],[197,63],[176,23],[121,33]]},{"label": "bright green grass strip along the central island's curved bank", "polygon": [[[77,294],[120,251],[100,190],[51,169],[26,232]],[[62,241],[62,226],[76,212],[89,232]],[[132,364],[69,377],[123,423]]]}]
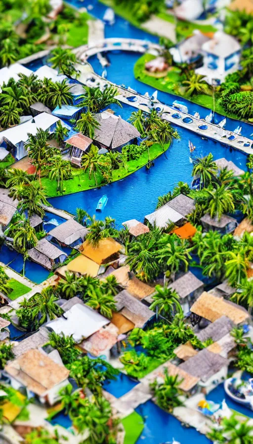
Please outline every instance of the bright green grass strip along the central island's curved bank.
[{"label": "bright green grass strip along the central island's curved bank", "polygon": [[[166,145],[165,150],[169,148],[169,144]],[[163,154],[163,150],[161,146],[157,143],[152,145],[149,149],[150,154],[150,160],[154,160],[157,157],[159,157],[161,154]],[[117,180],[124,179],[129,174],[132,174],[133,172],[137,171],[142,166],[145,166],[148,163],[148,151],[144,151],[140,158],[135,161],[129,161],[127,162],[128,169],[125,168],[119,168],[114,169],[112,172],[113,175],[113,182],[116,182]],[[78,191],[86,191],[91,188],[96,188],[96,182],[94,179],[94,176],[91,175],[91,178],[89,179],[88,173],[83,172],[80,168],[73,168],[73,179],[64,180],[63,181],[63,195],[65,194],[71,194],[71,193],[77,193]],[[97,177],[98,186],[106,185],[107,183],[99,183],[99,177]],[[56,190],[57,188],[57,182],[56,180],[50,180],[48,177],[42,177],[42,185],[45,189],[45,194],[47,197],[55,197],[62,195],[60,192]]]}]

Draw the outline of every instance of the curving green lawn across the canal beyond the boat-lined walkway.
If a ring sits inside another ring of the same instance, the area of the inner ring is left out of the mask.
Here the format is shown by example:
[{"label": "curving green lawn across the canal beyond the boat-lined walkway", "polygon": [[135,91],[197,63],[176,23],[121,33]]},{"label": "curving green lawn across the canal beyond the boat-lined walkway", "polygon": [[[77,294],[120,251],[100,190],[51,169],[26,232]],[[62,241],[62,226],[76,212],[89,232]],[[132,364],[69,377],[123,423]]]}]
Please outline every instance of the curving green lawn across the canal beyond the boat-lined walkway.
[{"label": "curving green lawn across the canal beyond the boat-lined walkway", "polygon": [[[213,110],[212,95],[209,96],[207,94],[196,94],[191,97],[186,97],[175,93],[175,91],[173,90],[173,86],[177,84],[179,81],[179,73],[178,71],[176,71],[176,68],[173,71],[169,71],[167,76],[163,78],[155,78],[144,72],[145,63],[149,60],[152,60],[153,58],[155,58],[155,56],[152,56],[151,54],[144,54],[136,61],[133,68],[133,73],[134,77],[137,80],[139,80],[142,83],[145,83],[146,85],[152,86],[156,90],[160,90],[168,94],[173,94],[176,97],[182,97],[184,99],[189,100],[190,102],[208,108],[209,110]],[[214,106],[215,106],[215,112],[226,115],[227,117],[231,117],[233,119],[242,120],[239,119],[239,117],[236,114],[226,112],[224,108],[220,105],[218,97],[216,97],[215,99]]]}]

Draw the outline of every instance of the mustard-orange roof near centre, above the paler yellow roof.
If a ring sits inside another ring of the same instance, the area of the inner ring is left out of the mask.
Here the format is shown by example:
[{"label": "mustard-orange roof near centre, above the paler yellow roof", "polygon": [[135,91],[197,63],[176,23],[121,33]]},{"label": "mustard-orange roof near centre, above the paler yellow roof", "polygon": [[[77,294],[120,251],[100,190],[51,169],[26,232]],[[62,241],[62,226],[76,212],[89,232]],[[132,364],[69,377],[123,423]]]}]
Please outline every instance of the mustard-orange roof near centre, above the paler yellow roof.
[{"label": "mustard-orange roof near centre, above the paler yellow roof", "polygon": [[79,251],[87,258],[101,265],[110,262],[115,255],[118,256],[121,249],[122,245],[119,242],[116,242],[112,237],[106,237],[99,240],[96,247],[85,241],[79,248]]}]

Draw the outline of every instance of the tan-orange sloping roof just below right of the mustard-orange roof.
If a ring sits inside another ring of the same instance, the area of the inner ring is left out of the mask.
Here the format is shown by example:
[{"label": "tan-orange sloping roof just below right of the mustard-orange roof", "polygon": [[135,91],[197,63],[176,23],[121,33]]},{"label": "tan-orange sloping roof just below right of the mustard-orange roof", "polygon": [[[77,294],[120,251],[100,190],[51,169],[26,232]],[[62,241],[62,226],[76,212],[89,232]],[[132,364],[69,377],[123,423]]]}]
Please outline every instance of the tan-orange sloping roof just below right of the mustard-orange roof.
[{"label": "tan-orange sloping roof just below right of the mustard-orange roof", "polygon": [[126,288],[129,294],[136,297],[137,299],[143,299],[146,296],[154,293],[155,288],[142,282],[133,273],[130,273],[128,265],[114,270],[112,275],[114,275],[119,282],[119,284]]}]

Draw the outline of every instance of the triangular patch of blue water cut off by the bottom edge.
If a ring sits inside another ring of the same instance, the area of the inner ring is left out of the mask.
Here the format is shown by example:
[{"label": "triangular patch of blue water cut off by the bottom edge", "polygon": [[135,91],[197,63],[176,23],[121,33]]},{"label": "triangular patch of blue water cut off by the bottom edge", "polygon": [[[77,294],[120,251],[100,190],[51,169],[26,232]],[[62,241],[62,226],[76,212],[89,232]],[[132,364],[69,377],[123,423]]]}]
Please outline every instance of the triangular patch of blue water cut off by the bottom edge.
[{"label": "triangular patch of blue water cut off by the bottom edge", "polygon": [[204,435],[193,428],[184,428],[180,422],[169,413],[160,409],[152,401],[136,408],[144,419],[144,429],[136,444],[162,444],[179,441],[181,444],[210,444]]}]

